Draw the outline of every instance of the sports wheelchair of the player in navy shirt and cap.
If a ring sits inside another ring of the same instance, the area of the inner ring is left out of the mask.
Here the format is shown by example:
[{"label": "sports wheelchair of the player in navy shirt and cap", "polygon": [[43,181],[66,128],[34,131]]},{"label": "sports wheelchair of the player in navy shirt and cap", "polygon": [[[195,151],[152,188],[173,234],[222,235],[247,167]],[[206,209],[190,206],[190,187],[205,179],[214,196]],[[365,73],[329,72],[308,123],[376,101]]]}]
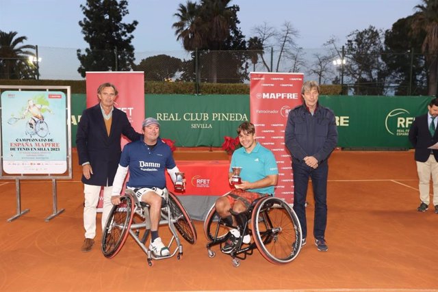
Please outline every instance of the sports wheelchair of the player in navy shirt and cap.
[{"label": "sports wheelchair of the player in navy shirt and cap", "polygon": [[[131,189],[126,189],[125,196],[120,197],[120,200],[120,204],[112,207],[105,228],[103,229],[101,249],[106,258],[113,258],[120,252],[128,234],[131,235],[134,241],[136,241],[147,255],[149,266],[152,266],[153,259],[170,258],[175,256],[177,252],[177,258],[181,258],[183,255],[183,245],[181,245],[178,233],[185,241],[188,241],[188,243],[196,243],[196,229],[192,219],[187,211],[185,211],[177,196],[167,191],[167,189],[165,190],[165,196],[162,200],[159,226],[167,225],[172,233],[172,237],[167,245],[170,250],[168,256],[155,256],[151,250],[146,248],[146,239],[148,239],[151,231],[149,204],[139,202],[137,196]],[[140,236],[140,230],[144,230],[142,236]],[[173,251],[172,245],[175,245]]]}]

